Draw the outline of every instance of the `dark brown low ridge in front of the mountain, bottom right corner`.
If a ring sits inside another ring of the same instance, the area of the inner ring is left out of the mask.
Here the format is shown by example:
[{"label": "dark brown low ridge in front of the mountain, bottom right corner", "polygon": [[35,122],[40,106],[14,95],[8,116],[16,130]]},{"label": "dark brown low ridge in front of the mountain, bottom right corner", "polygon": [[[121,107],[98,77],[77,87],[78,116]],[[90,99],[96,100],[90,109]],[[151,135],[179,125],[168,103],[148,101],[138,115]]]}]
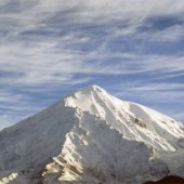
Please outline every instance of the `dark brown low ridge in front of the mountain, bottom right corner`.
[{"label": "dark brown low ridge in front of the mountain, bottom right corner", "polygon": [[157,182],[147,182],[145,184],[184,184],[184,179],[180,176],[170,175]]}]

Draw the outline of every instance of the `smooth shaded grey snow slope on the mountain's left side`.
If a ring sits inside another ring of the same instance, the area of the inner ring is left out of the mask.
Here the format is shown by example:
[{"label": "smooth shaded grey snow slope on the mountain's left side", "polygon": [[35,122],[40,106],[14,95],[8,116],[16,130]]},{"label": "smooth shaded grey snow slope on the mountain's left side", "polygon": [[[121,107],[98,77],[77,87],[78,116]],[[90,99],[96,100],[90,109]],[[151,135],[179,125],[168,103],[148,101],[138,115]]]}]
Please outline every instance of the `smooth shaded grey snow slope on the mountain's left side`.
[{"label": "smooth shaded grey snow slope on the mountain's left side", "polygon": [[77,121],[75,111],[60,103],[2,130],[0,178],[1,175],[12,178],[11,173],[17,172],[21,174],[31,172],[37,178],[37,173],[44,168],[50,157],[60,154],[65,134]]}]

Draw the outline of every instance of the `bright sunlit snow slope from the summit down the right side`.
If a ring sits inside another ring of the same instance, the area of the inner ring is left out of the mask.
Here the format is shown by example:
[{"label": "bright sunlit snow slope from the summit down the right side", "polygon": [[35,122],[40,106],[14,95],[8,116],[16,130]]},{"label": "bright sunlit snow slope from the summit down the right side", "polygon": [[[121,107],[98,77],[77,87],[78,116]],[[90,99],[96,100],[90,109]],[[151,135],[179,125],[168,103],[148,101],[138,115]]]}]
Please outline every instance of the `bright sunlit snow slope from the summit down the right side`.
[{"label": "bright sunlit snow slope from the summit down the right side", "polygon": [[175,150],[183,124],[143,105],[120,101],[100,87],[90,87],[65,98],[66,106],[102,117],[124,139],[145,142],[159,150]]}]

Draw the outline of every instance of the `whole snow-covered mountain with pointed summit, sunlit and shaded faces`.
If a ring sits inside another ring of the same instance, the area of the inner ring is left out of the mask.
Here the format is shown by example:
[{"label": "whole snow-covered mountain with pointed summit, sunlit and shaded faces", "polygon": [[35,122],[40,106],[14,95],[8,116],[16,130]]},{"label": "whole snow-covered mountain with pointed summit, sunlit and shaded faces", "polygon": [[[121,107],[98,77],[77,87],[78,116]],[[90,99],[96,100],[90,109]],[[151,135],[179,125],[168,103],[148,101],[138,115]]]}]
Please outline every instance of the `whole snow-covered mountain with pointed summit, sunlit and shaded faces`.
[{"label": "whole snow-covered mountain with pointed summit, sunlit and shaded faces", "polygon": [[184,126],[92,86],[0,132],[0,184],[184,176]]}]

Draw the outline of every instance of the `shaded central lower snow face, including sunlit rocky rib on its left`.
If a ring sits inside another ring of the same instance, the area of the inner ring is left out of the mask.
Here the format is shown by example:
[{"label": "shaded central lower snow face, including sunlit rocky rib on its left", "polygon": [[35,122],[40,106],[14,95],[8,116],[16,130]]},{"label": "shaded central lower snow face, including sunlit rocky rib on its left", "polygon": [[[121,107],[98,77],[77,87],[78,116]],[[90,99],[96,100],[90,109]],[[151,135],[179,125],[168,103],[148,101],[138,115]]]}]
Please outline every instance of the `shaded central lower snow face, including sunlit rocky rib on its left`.
[{"label": "shaded central lower snow face, including sunlit rocky rib on its left", "polygon": [[[102,118],[80,111],[62,153],[45,168],[45,182],[143,183],[169,173],[167,165],[143,142],[122,139]],[[61,167],[61,169],[58,169]],[[51,171],[54,171],[51,173]]]}]

